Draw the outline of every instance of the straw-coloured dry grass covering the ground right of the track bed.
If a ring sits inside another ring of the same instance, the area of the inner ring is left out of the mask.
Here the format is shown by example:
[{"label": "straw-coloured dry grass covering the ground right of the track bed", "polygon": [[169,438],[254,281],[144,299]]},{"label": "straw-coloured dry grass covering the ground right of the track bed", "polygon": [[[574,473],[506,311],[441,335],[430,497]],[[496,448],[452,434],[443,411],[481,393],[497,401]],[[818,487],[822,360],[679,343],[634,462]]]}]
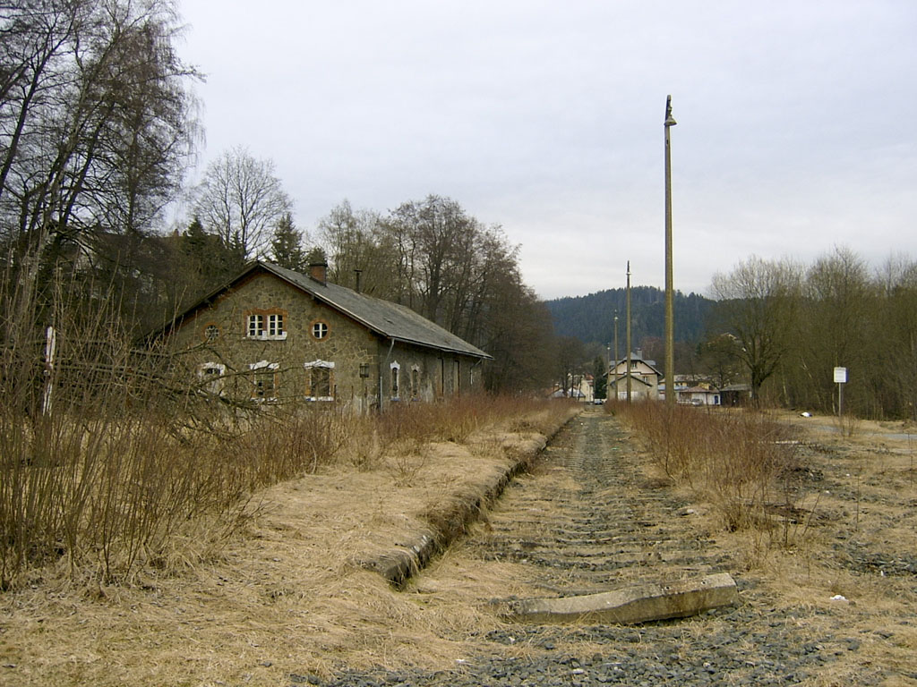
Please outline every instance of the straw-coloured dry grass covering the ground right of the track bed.
[{"label": "straw-coloured dry grass covering the ground right of the track bed", "polygon": [[[841,658],[807,685],[856,684],[864,666],[887,669],[893,677],[885,687],[917,685],[905,677],[917,673],[914,576],[864,569],[856,562],[857,555],[912,560],[917,553],[917,442],[908,434],[913,428],[873,420],[838,424],[830,416],[804,419],[780,411],[768,412],[767,421],[794,432],[801,442],[789,464],[810,476],[797,481],[788,495],[796,510],[789,517],[787,511],[770,510],[731,527],[719,496],[698,488],[702,481],[695,473],[674,488],[693,500],[699,534],[733,551],[737,573],[754,583],[744,594],[746,604],[798,618],[802,637],[859,642],[856,650],[841,642]],[[648,445],[652,448],[652,442]],[[719,455],[728,459],[728,452]],[[658,454],[647,455],[646,470],[650,476],[666,474]],[[779,479],[760,491],[780,495],[778,485]],[[834,598],[838,594],[844,599]]]}]

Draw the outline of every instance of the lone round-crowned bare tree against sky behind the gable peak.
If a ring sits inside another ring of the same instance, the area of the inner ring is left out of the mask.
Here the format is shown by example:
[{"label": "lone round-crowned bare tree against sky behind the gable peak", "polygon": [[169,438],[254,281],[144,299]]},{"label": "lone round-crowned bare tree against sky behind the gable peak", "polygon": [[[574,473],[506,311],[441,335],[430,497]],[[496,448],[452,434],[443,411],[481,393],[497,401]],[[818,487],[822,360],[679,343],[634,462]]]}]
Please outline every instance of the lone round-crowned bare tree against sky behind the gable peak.
[{"label": "lone round-crowned bare tree against sky behind the gable peak", "polygon": [[274,175],[270,159],[234,147],[216,158],[193,192],[193,213],[245,258],[268,250],[272,230],[293,203]]}]

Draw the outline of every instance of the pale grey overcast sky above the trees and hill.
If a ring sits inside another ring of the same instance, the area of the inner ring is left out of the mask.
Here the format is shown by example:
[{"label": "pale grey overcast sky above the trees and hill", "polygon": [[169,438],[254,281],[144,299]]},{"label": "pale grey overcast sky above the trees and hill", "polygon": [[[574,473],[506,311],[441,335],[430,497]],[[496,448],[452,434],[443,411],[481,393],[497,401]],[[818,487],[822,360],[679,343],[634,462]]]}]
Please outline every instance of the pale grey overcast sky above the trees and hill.
[{"label": "pale grey overcast sky above the trees and hill", "polygon": [[914,0],[179,0],[206,163],[271,158],[296,224],[436,193],[546,299],[835,245],[917,259]]}]

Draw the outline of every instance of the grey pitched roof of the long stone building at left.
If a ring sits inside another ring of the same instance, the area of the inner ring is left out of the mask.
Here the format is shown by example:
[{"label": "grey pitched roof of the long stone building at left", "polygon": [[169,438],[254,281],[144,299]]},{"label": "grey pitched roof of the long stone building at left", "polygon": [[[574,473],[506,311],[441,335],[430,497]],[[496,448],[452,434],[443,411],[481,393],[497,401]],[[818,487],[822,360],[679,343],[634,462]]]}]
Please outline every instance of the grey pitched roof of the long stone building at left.
[{"label": "grey pitched roof of the long stone building at left", "polygon": [[[259,267],[282,278],[294,287],[304,290],[313,296],[315,300],[325,303],[328,307],[347,315],[370,329],[370,331],[381,334],[387,339],[393,339],[404,344],[435,348],[449,353],[492,359],[491,355],[484,353],[480,348],[448,332],[435,322],[430,322],[410,308],[398,303],[392,303],[389,300],[373,298],[337,284],[323,284],[307,275],[294,272],[292,269],[278,267],[269,262],[259,260],[251,263],[230,284]],[[219,289],[219,291],[223,289],[226,289],[226,287]],[[219,291],[211,294],[204,301],[210,300]],[[199,304],[203,304],[204,301]]]}]

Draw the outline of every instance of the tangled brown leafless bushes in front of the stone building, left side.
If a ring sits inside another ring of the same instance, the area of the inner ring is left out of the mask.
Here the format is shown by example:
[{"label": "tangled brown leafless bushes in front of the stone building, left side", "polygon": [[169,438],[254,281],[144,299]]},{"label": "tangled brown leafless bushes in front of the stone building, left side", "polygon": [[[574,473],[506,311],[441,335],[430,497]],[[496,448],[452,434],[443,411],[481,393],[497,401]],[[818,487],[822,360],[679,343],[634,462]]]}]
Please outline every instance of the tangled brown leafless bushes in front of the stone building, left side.
[{"label": "tangled brown leafless bushes in front of the stone building, left side", "polygon": [[231,533],[264,486],[342,462],[407,484],[429,442],[467,442],[534,408],[475,397],[356,417],[216,396],[187,356],[132,339],[111,289],[86,298],[57,285],[39,304],[16,284],[0,284],[3,588],[61,562],[72,576],[129,582],[181,561],[174,542],[194,523],[215,523],[217,541]]}]

